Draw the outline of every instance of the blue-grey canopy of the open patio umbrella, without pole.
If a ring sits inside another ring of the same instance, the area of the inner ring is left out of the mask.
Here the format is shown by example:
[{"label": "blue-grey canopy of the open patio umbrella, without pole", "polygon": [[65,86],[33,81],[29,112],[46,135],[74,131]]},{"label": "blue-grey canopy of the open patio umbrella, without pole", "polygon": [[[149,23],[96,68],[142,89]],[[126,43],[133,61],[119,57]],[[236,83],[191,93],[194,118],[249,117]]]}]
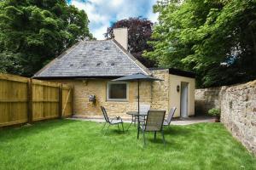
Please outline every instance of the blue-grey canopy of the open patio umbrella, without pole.
[{"label": "blue-grey canopy of the open patio umbrella, without pole", "polygon": [[154,77],[150,77],[148,75],[144,75],[143,73],[137,73],[137,74],[132,74],[129,76],[125,76],[125,77],[120,77],[117,79],[114,79],[112,81],[120,81],[120,82],[135,82],[135,81],[146,81],[146,82],[154,82],[154,81],[163,81],[159,78],[154,78]]}]

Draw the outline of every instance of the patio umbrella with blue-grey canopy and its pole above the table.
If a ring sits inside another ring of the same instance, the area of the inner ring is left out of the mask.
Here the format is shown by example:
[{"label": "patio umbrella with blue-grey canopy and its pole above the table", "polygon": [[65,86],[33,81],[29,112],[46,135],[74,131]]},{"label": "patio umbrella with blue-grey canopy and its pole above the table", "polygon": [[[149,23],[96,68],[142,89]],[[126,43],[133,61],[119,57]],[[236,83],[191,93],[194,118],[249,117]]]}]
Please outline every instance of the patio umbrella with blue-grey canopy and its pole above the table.
[{"label": "patio umbrella with blue-grey canopy and its pole above the table", "polygon": [[143,82],[154,82],[154,81],[163,81],[159,78],[150,77],[148,75],[144,75],[143,73],[136,73],[125,77],[120,77],[114,79],[112,81],[119,82],[137,82],[137,111],[140,112],[140,81]]}]

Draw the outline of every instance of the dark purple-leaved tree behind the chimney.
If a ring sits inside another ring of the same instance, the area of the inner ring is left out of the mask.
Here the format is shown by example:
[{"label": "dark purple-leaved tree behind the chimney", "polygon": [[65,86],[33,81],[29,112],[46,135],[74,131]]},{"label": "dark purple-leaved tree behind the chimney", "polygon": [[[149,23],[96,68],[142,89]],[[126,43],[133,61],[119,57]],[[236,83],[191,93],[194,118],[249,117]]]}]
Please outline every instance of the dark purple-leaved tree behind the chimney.
[{"label": "dark purple-leaved tree behind the chimney", "polygon": [[147,42],[150,40],[152,34],[153,23],[150,20],[140,17],[119,20],[108,28],[105,37],[113,38],[113,28],[122,27],[128,28],[128,50],[130,53],[140,60],[143,65],[153,67],[154,61],[142,56],[144,50],[152,50],[152,47]]}]

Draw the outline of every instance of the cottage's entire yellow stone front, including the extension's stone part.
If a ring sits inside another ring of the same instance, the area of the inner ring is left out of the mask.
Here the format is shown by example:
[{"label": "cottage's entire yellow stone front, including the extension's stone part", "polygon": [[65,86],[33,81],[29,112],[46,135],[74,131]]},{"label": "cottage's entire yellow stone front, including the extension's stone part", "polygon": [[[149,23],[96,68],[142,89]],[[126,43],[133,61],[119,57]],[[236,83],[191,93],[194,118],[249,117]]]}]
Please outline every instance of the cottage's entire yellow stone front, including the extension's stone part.
[{"label": "cottage's entire yellow stone front, including the extension's stone part", "polygon": [[[169,73],[168,70],[153,71],[154,77],[164,81],[140,82],[140,104],[151,105],[152,109],[168,111]],[[110,79],[55,80],[74,87],[73,114],[84,117],[102,117],[101,105],[109,115],[131,118],[127,111],[137,111],[137,82],[128,82],[127,101],[108,101],[107,85]],[[96,103],[89,101],[89,95],[96,95]],[[167,95],[166,95],[167,94]]]}]

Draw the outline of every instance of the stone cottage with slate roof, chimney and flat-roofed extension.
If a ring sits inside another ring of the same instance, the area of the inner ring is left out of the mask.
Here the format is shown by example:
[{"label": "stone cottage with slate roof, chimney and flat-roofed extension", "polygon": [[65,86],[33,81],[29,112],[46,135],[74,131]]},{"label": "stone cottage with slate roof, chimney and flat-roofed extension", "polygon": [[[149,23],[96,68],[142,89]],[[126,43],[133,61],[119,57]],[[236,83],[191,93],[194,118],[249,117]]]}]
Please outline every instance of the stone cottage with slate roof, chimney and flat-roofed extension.
[{"label": "stone cottage with slate roof, chimney and flat-roofed extension", "polygon": [[[141,104],[151,109],[169,111],[174,116],[195,115],[195,75],[176,69],[148,69],[127,51],[126,28],[115,29],[115,38],[102,41],[80,41],[52,60],[33,78],[67,83],[74,88],[73,114],[102,117],[100,105],[108,113],[127,116],[137,111],[137,82],[112,82],[114,78],[143,73],[161,82],[141,82]],[[95,99],[93,101],[93,98]]]}]

